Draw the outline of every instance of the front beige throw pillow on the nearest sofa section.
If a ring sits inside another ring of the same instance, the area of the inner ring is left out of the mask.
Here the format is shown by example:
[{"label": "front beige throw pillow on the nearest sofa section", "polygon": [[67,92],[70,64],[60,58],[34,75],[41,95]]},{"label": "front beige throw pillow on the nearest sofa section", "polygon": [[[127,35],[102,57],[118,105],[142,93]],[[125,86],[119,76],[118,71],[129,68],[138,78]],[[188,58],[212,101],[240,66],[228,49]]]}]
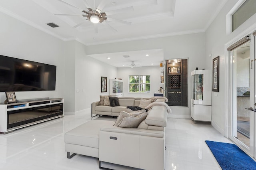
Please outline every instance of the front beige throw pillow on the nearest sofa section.
[{"label": "front beige throw pillow on the nearest sofa section", "polygon": [[[140,113],[140,112],[137,112]],[[125,127],[125,128],[137,128],[138,125],[146,119],[148,113],[140,113],[138,115],[133,114],[132,116],[129,117],[124,117],[119,123],[118,127]]]}]

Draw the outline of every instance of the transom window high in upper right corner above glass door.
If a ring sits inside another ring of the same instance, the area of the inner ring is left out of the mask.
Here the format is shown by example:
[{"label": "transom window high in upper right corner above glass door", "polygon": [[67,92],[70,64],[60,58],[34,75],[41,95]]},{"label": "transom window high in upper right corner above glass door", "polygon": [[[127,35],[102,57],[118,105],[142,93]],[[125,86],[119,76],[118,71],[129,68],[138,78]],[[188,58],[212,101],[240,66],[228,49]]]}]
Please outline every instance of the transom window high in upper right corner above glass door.
[{"label": "transom window high in upper right corner above glass door", "polygon": [[232,32],[256,13],[256,0],[246,0],[232,15]]}]

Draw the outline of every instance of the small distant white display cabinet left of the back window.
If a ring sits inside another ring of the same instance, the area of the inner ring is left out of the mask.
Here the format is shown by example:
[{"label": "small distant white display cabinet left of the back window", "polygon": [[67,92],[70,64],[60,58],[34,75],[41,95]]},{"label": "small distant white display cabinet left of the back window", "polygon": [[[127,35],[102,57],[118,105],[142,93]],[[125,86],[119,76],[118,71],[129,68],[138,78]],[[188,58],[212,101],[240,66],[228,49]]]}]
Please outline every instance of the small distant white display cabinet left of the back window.
[{"label": "small distant white display cabinet left of the back window", "polygon": [[123,81],[120,79],[109,80],[109,95],[122,97],[123,96]]}]

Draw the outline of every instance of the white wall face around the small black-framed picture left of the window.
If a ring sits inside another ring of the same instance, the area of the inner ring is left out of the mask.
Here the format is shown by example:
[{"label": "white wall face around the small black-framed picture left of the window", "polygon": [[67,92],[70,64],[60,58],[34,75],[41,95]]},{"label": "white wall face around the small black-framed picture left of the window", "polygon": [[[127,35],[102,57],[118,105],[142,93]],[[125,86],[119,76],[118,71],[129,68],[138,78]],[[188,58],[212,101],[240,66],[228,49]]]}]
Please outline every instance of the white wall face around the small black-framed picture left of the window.
[{"label": "white wall face around the small black-framed picture left of the window", "polygon": [[117,77],[117,68],[86,55],[86,46],[76,42],[76,73],[75,92],[76,109],[82,111],[91,107],[92,102],[100,101],[100,95],[109,95],[109,90],[101,93],[101,77],[108,78],[107,89],[109,89],[109,79]]}]

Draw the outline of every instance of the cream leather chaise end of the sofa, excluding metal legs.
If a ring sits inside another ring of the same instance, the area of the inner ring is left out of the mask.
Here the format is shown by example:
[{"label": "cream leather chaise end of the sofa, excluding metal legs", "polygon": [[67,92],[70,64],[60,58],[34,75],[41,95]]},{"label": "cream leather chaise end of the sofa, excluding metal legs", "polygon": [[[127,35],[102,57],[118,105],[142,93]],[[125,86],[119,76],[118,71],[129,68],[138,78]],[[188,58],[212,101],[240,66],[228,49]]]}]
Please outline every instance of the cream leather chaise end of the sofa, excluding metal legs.
[{"label": "cream leather chaise end of the sofa, excluding metal legs", "polygon": [[99,131],[101,127],[112,126],[113,121],[88,121],[64,134],[64,142],[99,148]]}]

